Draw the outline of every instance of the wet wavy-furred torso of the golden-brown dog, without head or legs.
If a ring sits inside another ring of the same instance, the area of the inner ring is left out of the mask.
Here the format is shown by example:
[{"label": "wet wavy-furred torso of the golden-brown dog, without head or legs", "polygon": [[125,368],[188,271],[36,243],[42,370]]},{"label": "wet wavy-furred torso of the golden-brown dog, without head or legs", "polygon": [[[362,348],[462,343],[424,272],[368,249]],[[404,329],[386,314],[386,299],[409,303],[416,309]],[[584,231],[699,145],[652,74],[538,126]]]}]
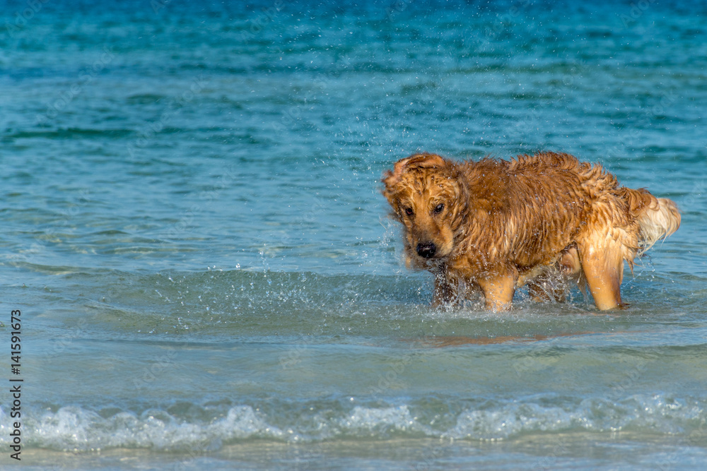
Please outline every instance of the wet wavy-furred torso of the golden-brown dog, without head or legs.
[{"label": "wet wavy-furred torso of the golden-brown dog, without head or legs", "polygon": [[469,208],[480,220],[474,244],[520,270],[554,261],[601,195],[617,187],[600,165],[560,153],[461,164]]}]

